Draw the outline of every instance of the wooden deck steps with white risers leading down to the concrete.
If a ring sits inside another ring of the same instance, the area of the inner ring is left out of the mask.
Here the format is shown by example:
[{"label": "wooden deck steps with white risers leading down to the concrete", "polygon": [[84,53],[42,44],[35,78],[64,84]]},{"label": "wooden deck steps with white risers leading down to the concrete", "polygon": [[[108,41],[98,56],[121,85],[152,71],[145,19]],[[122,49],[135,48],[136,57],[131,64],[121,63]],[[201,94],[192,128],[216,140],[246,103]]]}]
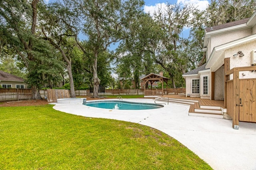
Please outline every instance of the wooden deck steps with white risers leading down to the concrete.
[{"label": "wooden deck steps with white risers leading down to the concrete", "polygon": [[176,98],[167,98],[167,97],[157,97],[157,101],[165,103],[175,103],[182,105],[189,105],[190,109],[188,115],[190,116],[199,116],[199,117],[212,117],[223,119],[223,113],[220,106],[210,106],[210,105],[200,105],[198,100],[190,99],[176,99]]}]

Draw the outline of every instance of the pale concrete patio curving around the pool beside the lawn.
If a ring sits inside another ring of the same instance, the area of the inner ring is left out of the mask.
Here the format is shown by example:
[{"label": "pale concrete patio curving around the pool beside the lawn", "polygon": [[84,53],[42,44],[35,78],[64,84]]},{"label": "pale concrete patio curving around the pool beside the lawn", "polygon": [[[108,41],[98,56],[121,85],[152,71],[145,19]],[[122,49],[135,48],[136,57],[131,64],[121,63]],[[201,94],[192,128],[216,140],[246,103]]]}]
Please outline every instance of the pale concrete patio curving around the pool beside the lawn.
[{"label": "pale concrete patio curving around the pool beside the lawn", "polygon": [[[152,99],[124,101],[154,103]],[[160,103],[160,102],[158,102]],[[139,123],[172,136],[215,170],[256,169],[256,123],[188,116],[189,106],[169,103],[160,109],[114,110],[80,104],[56,104],[53,108],[65,113],[92,118],[106,118]]]}]

